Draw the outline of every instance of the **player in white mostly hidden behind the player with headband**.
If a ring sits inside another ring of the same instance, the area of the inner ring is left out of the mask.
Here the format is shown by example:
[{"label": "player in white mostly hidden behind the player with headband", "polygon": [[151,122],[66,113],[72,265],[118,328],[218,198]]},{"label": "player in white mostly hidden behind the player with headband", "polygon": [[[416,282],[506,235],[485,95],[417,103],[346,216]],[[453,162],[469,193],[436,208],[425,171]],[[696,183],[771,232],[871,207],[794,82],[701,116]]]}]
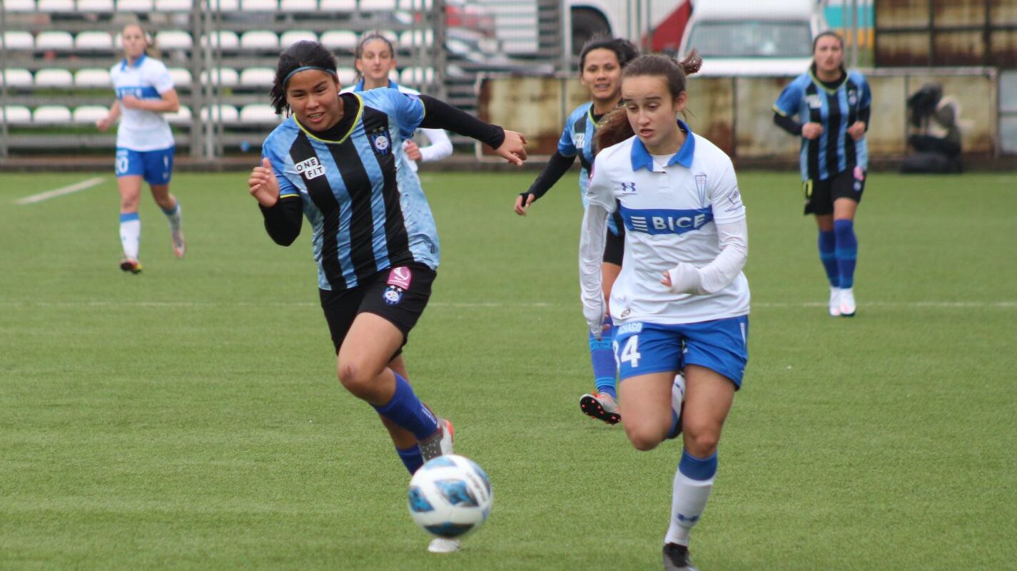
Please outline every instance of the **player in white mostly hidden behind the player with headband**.
[{"label": "player in white mostly hidden behind the player with headband", "polygon": [[[396,47],[384,36],[371,31],[365,34],[357,44],[354,65],[360,74],[357,83],[345,87],[343,92],[364,91],[378,87],[392,87],[404,93],[419,96],[420,91],[400,85],[388,78],[388,72],[396,69]],[[418,129],[430,144],[419,146],[413,139],[403,141],[403,150],[410,158],[410,167],[417,170],[417,161],[431,163],[441,161],[452,154],[452,141],[441,129]]]}]

